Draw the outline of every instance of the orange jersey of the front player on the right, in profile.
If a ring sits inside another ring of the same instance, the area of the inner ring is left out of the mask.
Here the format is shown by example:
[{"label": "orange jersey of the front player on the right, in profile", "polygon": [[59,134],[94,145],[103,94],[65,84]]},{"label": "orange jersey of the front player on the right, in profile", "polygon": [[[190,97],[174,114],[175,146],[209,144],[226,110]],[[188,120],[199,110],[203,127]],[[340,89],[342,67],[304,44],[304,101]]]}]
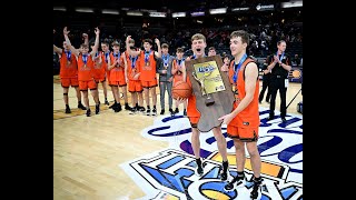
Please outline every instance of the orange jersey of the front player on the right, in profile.
[{"label": "orange jersey of the front player on the right, in profile", "polygon": [[[253,59],[247,58],[244,63],[240,67],[240,70],[238,71],[237,74],[237,84],[236,88],[238,90],[238,94],[236,94],[238,101],[234,102],[234,109],[238,106],[238,103],[245,98],[246,96],[246,90],[245,90],[245,68],[247,63],[254,62]],[[234,63],[234,62],[233,62]],[[233,70],[234,66],[233,66]],[[254,92],[254,99],[253,101],[241,111],[239,112],[229,124],[234,124],[236,127],[246,127],[244,123],[248,123],[249,127],[256,128],[259,127],[259,111],[258,111],[258,96],[259,96],[259,80],[258,77],[256,77],[256,87],[255,87],[255,92]]]}]

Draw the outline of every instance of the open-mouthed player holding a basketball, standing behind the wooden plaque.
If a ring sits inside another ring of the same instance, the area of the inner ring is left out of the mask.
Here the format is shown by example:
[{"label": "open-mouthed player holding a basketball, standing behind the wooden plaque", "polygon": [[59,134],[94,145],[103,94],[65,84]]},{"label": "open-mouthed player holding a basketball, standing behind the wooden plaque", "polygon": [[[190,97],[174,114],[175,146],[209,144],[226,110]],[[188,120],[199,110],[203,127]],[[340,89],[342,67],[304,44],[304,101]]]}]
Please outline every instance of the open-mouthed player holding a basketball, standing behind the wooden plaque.
[{"label": "open-mouthed player holding a basketball, standing behind the wooden plaque", "polygon": [[[186,60],[190,59],[198,59],[205,57],[205,48],[206,44],[206,38],[201,33],[196,33],[191,37],[191,50],[194,52],[192,57],[187,58]],[[182,64],[182,74],[184,80],[188,82],[188,84],[191,87],[191,82],[189,80],[189,77],[187,76],[185,62]],[[194,80],[195,81],[195,80]],[[179,99],[179,103],[181,103],[185,99]],[[204,166],[202,160],[200,158],[200,141],[199,136],[200,132],[197,129],[198,121],[200,118],[200,112],[197,110],[196,107],[196,97],[192,94],[188,98],[188,108],[187,108],[187,114],[191,124],[191,146],[192,151],[196,157],[197,168],[196,168],[196,174],[202,176],[204,174]],[[228,160],[227,160],[227,150],[226,150],[226,139],[222,136],[221,127],[212,128],[214,137],[217,141],[217,147],[219,150],[219,153],[222,157],[222,168],[220,168],[220,179],[226,181],[228,179],[229,172],[228,172]]]}]

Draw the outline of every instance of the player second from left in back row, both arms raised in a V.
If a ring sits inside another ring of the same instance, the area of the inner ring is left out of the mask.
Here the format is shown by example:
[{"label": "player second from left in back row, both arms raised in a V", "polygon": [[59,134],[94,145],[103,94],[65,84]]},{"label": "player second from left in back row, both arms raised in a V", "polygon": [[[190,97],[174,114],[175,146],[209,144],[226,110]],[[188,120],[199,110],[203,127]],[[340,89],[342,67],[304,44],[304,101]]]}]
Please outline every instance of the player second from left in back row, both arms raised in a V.
[{"label": "player second from left in back row, both arms raised in a V", "polygon": [[99,98],[98,98],[98,89],[97,89],[97,83],[95,82],[95,79],[92,77],[92,68],[93,68],[93,61],[92,57],[95,57],[96,52],[98,51],[99,48],[99,33],[100,30],[96,28],[95,33],[96,33],[96,41],[95,46],[92,47],[92,51],[89,53],[89,46],[82,43],[80,46],[80,51],[79,52],[77,49],[75,49],[70,40],[68,38],[69,31],[67,30],[67,27],[63,29],[63,34],[66,38],[66,42],[71,50],[71,52],[76,56],[77,58],[77,63],[78,63],[78,81],[79,81],[79,90],[82,92],[85,97],[85,103],[87,107],[87,117],[90,117],[91,110],[89,107],[89,99],[88,99],[88,89],[91,91],[91,96],[96,102],[96,114],[100,112],[100,103],[99,103]]}]

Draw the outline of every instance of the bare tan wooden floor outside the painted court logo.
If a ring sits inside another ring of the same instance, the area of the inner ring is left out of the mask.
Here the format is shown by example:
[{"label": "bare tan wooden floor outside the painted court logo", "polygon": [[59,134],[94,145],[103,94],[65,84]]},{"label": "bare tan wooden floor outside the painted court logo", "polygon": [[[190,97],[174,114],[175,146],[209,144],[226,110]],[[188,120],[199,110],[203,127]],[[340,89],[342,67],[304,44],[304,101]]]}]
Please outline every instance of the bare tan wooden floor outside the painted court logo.
[{"label": "bare tan wooden floor outside the painted court logo", "polygon": [[[287,103],[299,89],[300,83],[289,83]],[[158,88],[157,91],[159,93]],[[100,101],[103,102],[102,90],[99,92]],[[140,136],[140,131],[152,124],[155,118],[141,114],[130,116],[125,110],[115,113],[107,106],[101,106],[100,114],[88,118],[85,114],[86,111],[76,109],[77,97],[71,88],[69,99],[72,113],[66,114],[62,93],[59,79],[55,76],[53,199],[111,200],[145,197],[141,189],[136,187],[119,164],[168,147],[168,142],[148,140]],[[112,101],[111,91],[108,91],[108,97],[109,101]],[[92,98],[89,99],[90,104],[93,106]],[[296,107],[301,99],[299,93],[287,112],[298,113]],[[157,101],[159,113],[159,94]],[[168,101],[166,102],[167,114]],[[279,94],[277,94],[276,110],[279,110]],[[260,107],[268,108],[269,104],[263,102]]]}]

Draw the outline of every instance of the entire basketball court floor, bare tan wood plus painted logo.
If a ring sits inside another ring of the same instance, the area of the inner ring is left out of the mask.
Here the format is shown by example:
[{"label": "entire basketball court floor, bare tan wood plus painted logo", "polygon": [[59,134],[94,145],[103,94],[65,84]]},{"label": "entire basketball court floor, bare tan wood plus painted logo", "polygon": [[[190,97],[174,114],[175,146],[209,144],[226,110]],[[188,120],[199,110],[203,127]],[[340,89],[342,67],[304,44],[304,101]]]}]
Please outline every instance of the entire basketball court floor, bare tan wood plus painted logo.
[{"label": "entire basketball court floor, bare tan wood plus painted logo", "polygon": [[[287,104],[299,90],[300,83],[289,83]],[[58,76],[53,76],[55,200],[249,199],[249,181],[231,192],[224,191],[225,183],[218,178],[221,157],[211,132],[200,134],[205,173],[194,174],[191,131],[188,119],[182,117],[182,104],[180,113],[171,118],[166,98],[166,114],[159,116],[158,88],[157,93],[157,117],[125,110],[116,113],[101,104],[100,114],[88,118],[85,110],[77,109],[76,92],[70,88],[72,113],[66,114],[62,88]],[[103,102],[101,88],[99,97]],[[93,107],[90,96],[89,99]],[[113,101],[110,90],[108,100]],[[301,100],[298,93],[287,109],[286,123],[279,118],[278,93],[276,119],[267,122],[269,103],[260,103],[261,199],[303,199],[303,116],[297,112]],[[226,136],[226,126],[222,133]],[[228,138],[227,148],[230,174],[236,176],[235,148]],[[249,180],[248,158],[247,154],[245,172]]]}]

